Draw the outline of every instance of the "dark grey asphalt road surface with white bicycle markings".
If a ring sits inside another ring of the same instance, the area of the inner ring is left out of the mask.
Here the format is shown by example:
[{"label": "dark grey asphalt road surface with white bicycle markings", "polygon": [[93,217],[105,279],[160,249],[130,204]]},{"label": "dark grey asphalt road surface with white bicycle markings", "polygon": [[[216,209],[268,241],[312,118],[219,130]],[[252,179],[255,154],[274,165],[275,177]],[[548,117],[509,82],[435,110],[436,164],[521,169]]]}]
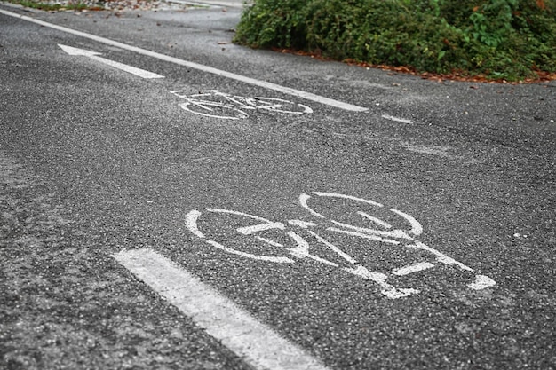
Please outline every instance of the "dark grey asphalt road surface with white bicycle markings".
[{"label": "dark grey asphalt road surface with white bicycle markings", "polygon": [[[555,83],[252,51],[234,8],[0,10],[131,45],[0,13],[0,368],[265,368],[115,259],[135,250],[326,368],[556,368]],[[191,102],[214,90],[238,119]]]}]

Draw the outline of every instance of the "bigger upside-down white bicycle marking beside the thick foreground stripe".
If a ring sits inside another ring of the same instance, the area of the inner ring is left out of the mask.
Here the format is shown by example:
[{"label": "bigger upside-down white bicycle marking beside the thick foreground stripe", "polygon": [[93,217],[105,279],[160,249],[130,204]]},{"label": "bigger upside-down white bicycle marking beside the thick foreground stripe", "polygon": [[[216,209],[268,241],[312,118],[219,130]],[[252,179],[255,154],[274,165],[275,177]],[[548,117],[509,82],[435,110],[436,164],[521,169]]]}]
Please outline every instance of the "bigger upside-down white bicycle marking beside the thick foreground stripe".
[{"label": "bigger upside-down white bicycle marking beside the thick foreground stripe", "polygon": [[[378,209],[385,208],[384,205],[382,205],[381,203],[377,203],[376,201],[368,201],[368,200],[364,200],[346,194],[320,193],[320,192],[314,192],[313,194],[314,196],[320,198],[339,198],[339,199],[345,199],[349,201],[361,202],[371,207],[377,207]],[[311,198],[312,195],[308,195],[305,193],[301,194],[298,199],[299,205],[303,209],[306,209],[306,211],[310,215],[315,216],[319,219],[326,219],[327,218],[326,216],[323,216],[321,213],[317,212],[316,210],[312,209],[309,206],[308,201]],[[416,240],[415,237],[417,237],[423,232],[423,226],[419,224],[419,222],[414,217],[409,216],[408,214],[401,212],[397,209],[388,209],[388,210],[393,212],[394,215],[400,216],[401,219],[403,219],[405,222],[407,222],[410,225],[410,230],[407,232],[398,229],[393,229],[393,226],[391,224],[362,211],[358,211],[356,213],[362,218],[365,218],[367,221],[369,221],[370,224],[376,224],[385,230],[369,229],[360,226],[354,226],[351,224],[341,223],[336,220],[330,219],[329,221],[335,226],[327,227],[325,228],[325,231],[343,233],[346,235],[355,236],[366,240],[374,240],[380,243],[396,246],[396,248],[414,248],[414,249],[422,250],[427,252],[427,254],[432,255],[434,257],[435,263],[417,262],[417,263],[401,266],[399,268],[395,268],[390,272],[371,272],[365,266],[359,264],[357,260],[353,258],[353,256],[349,256],[345,251],[341,250],[340,248],[332,244],[329,240],[326,240],[321,235],[311,230],[312,227],[317,226],[317,224],[313,222],[303,221],[303,220],[288,220],[287,223],[282,223],[282,222],[274,222],[260,216],[253,216],[247,213],[234,211],[234,210],[211,209],[211,208],[205,210],[210,213],[242,216],[242,217],[246,217],[258,221],[259,224],[252,224],[249,226],[239,227],[235,229],[235,231],[245,236],[253,236],[256,240],[271,245],[275,248],[284,248],[284,250],[290,256],[255,255],[234,248],[226,247],[215,240],[208,240],[208,238],[203,234],[203,232],[199,230],[197,224],[198,218],[199,216],[202,215],[202,213],[195,209],[189,211],[186,215],[187,230],[192,232],[198,238],[203,239],[205,242],[207,242],[213,247],[224,250],[227,253],[233,254],[235,256],[242,256],[245,258],[250,258],[250,259],[265,261],[270,263],[276,263],[276,264],[294,264],[295,260],[297,259],[305,259],[305,258],[312,259],[315,262],[318,262],[320,264],[326,264],[330,267],[340,268],[342,271],[356,275],[361,279],[368,279],[375,282],[381,288],[381,293],[391,299],[407,297],[409,295],[417,295],[419,293],[419,290],[413,288],[394,287],[392,284],[387,282],[388,278],[391,275],[406,276],[412,273],[424,272],[426,270],[433,269],[436,266],[436,264],[453,265],[461,271],[474,272],[474,270],[471,267],[455,260],[454,258],[444,255],[439,250],[431,248],[419,240]],[[338,265],[336,262],[330,261],[321,256],[315,256],[310,252],[311,247],[309,245],[309,241],[306,240],[306,237],[301,236],[296,231],[287,230],[286,224],[290,224],[291,226],[297,227],[304,233],[311,235],[311,237],[313,237],[314,240],[318,241],[320,245],[332,251],[336,256],[339,256],[341,260],[345,261],[345,263],[351,265],[351,267],[340,267],[340,265]],[[274,240],[269,240],[267,238],[256,235],[257,232],[266,232],[269,230],[277,230],[279,232],[284,232],[284,234],[289,238],[289,240],[292,240],[294,242],[295,247],[287,248],[282,243],[279,243]],[[485,275],[476,274],[474,281],[471,282],[470,284],[467,284],[467,287],[473,290],[481,290],[487,287],[492,287],[494,285],[496,285],[496,282],[493,279],[490,279],[488,278],[488,276]]]}]

